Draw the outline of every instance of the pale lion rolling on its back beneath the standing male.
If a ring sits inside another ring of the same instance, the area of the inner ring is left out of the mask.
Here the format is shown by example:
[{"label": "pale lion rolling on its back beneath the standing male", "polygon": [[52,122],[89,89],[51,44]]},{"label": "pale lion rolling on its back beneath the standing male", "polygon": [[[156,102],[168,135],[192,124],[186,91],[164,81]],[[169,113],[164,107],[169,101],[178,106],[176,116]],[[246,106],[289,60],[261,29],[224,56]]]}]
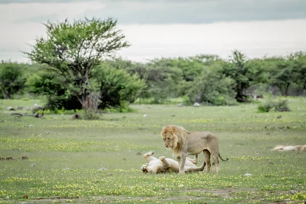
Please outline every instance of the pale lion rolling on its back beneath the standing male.
[{"label": "pale lion rolling on its back beneath the standing male", "polygon": [[[179,163],[173,159],[160,157],[159,159],[152,157],[154,151],[147,152],[143,155],[144,159],[146,159],[149,163],[142,165],[141,169],[144,173],[165,173],[165,172],[176,172],[179,173],[180,167]],[[190,159],[187,157],[185,163],[185,172],[194,172],[194,171],[202,171],[206,165],[205,162],[200,167],[197,167],[197,155],[194,156],[194,159]]]}]

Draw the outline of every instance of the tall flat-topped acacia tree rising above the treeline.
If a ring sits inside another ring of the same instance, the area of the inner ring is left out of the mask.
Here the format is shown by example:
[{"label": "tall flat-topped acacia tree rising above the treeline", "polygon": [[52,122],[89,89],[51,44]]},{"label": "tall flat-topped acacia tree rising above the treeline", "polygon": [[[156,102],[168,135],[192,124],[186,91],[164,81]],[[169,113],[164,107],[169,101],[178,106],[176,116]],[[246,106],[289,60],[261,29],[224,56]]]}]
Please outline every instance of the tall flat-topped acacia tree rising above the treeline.
[{"label": "tall flat-topped acacia tree rising above the treeline", "polygon": [[36,63],[65,78],[65,86],[80,101],[85,111],[97,110],[98,88],[92,78],[93,66],[112,58],[122,47],[130,46],[116,28],[117,20],[80,19],[69,22],[47,22],[47,37],[37,38],[30,53]]}]

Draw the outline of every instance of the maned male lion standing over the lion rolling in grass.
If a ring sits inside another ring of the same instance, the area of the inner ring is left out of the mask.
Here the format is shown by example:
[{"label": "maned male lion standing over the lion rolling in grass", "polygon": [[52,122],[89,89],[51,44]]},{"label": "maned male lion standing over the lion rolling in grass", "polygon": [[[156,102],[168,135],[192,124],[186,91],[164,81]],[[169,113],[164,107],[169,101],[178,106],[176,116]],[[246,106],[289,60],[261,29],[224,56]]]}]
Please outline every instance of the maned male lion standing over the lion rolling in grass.
[{"label": "maned male lion standing over the lion rolling in grass", "polygon": [[198,155],[201,151],[204,154],[204,160],[207,164],[206,172],[211,167],[210,156],[212,155],[216,173],[219,172],[219,154],[218,138],[211,132],[187,132],[184,127],[176,125],[164,126],[162,137],[167,148],[171,148],[173,155],[180,163],[179,173],[184,173],[184,166],[187,155]]}]

